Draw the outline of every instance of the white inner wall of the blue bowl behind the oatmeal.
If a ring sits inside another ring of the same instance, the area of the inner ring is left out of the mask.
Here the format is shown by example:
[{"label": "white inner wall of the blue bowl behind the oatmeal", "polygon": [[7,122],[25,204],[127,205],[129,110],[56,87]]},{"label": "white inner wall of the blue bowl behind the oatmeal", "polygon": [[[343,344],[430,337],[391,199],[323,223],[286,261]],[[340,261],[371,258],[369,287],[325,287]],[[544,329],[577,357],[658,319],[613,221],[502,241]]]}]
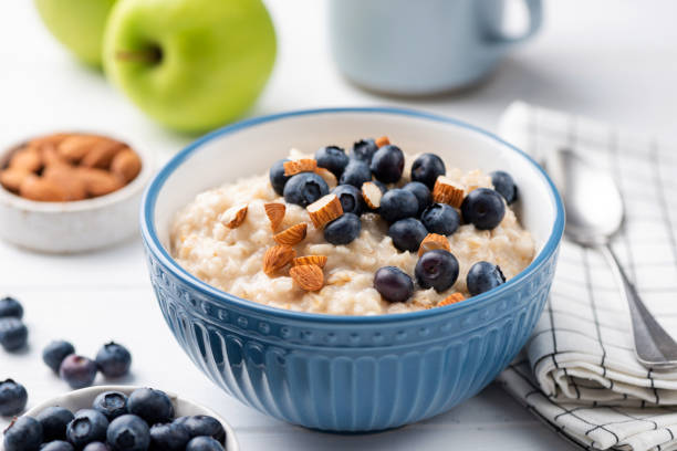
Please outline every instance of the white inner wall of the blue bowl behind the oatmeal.
[{"label": "white inner wall of the blue bowl behind the oatmeal", "polygon": [[550,237],[556,204],[543,174],[521,154],[471,128],[425,117],[374,112],[336,112],[285,116],[223,134],[196,149],[163,186],[155,208],[158,238],[169,251],[170,222],[197,193],[239,178],[268,172],[270,166],[295,147],[314,153],[338,145],[348,149],[363,137],[388,136],[406,154],[435,153],[447,168],[501,169],[512,175],[519,189],[514,206],[540,252]]}]

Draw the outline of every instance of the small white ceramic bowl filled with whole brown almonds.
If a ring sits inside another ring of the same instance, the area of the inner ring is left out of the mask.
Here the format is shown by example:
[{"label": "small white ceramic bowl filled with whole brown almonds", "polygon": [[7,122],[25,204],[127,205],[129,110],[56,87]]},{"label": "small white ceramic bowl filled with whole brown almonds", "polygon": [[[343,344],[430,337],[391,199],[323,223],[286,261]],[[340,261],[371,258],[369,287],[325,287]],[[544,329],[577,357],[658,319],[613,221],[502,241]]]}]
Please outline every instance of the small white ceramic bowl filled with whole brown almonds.
[{"label": "small white ceramic bowl filled with whole brown almonds", "polygon": [[0,155],[0,238],[49,253],[127,240],[152,171],[143,148],[101,135],[50,134],[9,147]]}]

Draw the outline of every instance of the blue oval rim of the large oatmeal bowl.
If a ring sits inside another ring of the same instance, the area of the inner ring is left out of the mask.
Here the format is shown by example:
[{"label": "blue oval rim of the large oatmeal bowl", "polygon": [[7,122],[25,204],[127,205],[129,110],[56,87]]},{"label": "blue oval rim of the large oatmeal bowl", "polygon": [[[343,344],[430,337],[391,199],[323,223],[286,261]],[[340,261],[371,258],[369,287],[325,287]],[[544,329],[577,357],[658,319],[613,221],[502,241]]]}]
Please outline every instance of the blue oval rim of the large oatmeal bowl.
[{"label": "blue oval rim of the large oatmeal bowl", "polygon": [[[510,150],[514,151],[518,156],[524,158],[531,164],[543,178],[545,186],[550,188],[550,198],[555,207],[555,218],[552,227],[552,231],[548,241],[543,245],[541,252],[533,259],[533,261],[519,274],[506,282],[504,284],[485,292],[480,295],[469,297],[462,303],[456,303],[446,305],[439,308],[423,310],[417,312],[397,313],[397,314],[381,314],[369,316],[355,316],[355,315],[332,315],[326,313],[309,313],[309,312],[294,312],[284,308],[277,308],[264,304],[257,303],[254,301],[246,300],[239,296],[235,296],[230,293],[223,292],[215,286],[209,285],[206,282],[197,279],[184,268],[181,268],[167,250],[163,247],[155,228],[155,206],[160,192],[160,189],[165,185],[165,181],[171,174],[194,153],[198,151],[206,143],[209,143],[216,138],[225,135],[230,135],[239,130],[253,127],[257,125],[275,122],[289,117],[303,117],[322,114],[386,114],[404,117],[413,117],[418,119],[426,119],[441,124],[449,124],[460,128],[466,128],[470,132],[482,135],[493,141],[502,145]],[[485,130],[478,126],[458,120],[456,118],[426,113],[408,108],[398,107],[332,107],[332,108],[314,108],[314,109],[298,109],[285,113],[271,114],[265,116],[258,116],[250,119],[240,120],[232,125],[228,125],[216,129],[207,135],[198,138],[194,143],[189,144],[181,151],[175,155],[165,166],[155,175],[144,191],[140,207],[140,232],[144,243],[148,251],[176,277],[181,280],[185,284],[191,289],[201,292],[210,298],[216,298],[226,305],[233,305],[242,307],[249,311],[253,311],[259,314],[267,316],[274,316],[281,319],[288,321],[301,321],[301,322],[315,322],[322,324],[351,324],[351,325],[368,325],[368,324],[381,324],[381,323],[400,323],[410,322],[416,319],[424,319],[430,316],[438,316],[440,313],[460,311],[471,308],[476,305],[481,304],[483,301],[490,298],[497,298],[502,293],[508,292],[514,285],[518,285],[522,280],[528,277],[530,274],[538,271],[558,250],[562,234],[564,232],[564,206],[562,199],[548,174],[541,168],[538,162],[523,150],[517,148],[512,144],[499,138],[497,135]]]}]

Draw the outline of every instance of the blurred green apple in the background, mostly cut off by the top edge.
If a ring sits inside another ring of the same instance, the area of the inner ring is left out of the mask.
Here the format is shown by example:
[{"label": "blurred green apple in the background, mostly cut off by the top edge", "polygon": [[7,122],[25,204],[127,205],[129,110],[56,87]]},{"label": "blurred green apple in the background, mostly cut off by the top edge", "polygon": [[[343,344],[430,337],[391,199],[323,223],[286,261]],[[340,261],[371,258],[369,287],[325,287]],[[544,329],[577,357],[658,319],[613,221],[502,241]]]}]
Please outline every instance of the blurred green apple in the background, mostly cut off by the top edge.
[{"label": "blurred green apple in the background, mostly cut off by the top edge", "polygon": [[103,33],[115,0],[35,0],[52,34],[77,57],[101,65]]}]

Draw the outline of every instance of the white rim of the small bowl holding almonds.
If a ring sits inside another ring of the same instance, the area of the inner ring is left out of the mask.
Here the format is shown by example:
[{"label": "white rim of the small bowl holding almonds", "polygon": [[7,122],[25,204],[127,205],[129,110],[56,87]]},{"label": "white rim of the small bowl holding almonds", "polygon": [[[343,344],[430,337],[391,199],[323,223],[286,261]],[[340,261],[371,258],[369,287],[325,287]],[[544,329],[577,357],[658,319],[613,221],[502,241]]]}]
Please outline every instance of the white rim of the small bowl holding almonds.
[{"label": "white rim of the small bowl holding almonds", "polygon": [[30,139],[34,137],[42,137],[48,135],[53,135],[58,133],[70,133],[70,134],[86,134],[86,135],[97,135],[104,136],[106,138],[112,138],[125,143],[128,145],[136,155],[142,160],[142,169],[136,175],[136,177],[125,185],[124,187],[110,192],[104,196],[98,196],[91,199],[83,200],[70,200],[65,202],[41,202],[37,200],[24,199],[21,196],[14,195],[13,192],[7,190],[4,187],[0,186],[0,203],[3,203],[10,208],[20,209],[30,212],[40,212],[45,214],[53,213],[72,213],[79,211],[93,211],[98,209],[104,209],[114,203],[123,202],[136,196],[138,192],[145,189],[146,183],[153,176],[154,167],[155,167],[155,158],[154,155],[145,149],[143,146],[137,146],[136,143],[131,143],[129,139],[123,139],[117,135],[107,133],[107,132],[95,132],[95,130],[61,130],[61,132],[45,132],[32,135],[25,139],[22,139],[13,145],[7,146],[0,150],[0,162],[6,161],[6,157],[8,157],[12,151],[17,150],[20,146],[27,144]]}]

